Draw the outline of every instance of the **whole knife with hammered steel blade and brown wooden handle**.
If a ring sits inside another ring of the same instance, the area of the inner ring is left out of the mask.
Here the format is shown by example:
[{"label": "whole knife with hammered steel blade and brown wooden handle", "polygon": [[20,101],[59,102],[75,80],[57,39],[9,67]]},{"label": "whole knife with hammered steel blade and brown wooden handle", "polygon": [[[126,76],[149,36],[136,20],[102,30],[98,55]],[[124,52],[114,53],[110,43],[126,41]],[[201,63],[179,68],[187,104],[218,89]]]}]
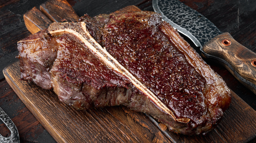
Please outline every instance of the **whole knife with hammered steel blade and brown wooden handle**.
[{"label": "whole knife with hammered steel blade and brown wooden handle", "polygon": [[153,8],[181,34],[200,47],[203,57],[218,60],[256,94],[256,54],[229,33],[221,32],[196,10],[179,0],[153,0]]}]

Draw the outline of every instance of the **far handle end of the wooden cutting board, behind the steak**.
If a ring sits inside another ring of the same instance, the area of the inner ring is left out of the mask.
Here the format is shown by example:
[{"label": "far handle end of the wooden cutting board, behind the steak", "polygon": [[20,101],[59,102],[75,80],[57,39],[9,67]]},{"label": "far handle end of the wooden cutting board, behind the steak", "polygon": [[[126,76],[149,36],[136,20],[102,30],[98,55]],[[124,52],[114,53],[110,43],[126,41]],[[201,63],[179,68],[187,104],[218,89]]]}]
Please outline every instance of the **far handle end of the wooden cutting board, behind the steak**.
[{"label": "far handle end of the wooden cutting board, behind the steak", "polygon": [[[125,11],[141,10],[132,5],[118,9],[111,14]],[[53,22],[77,22],[79,16],[66,0],[48,0],[40,5],[40,10],[34,7],[27,11],[23,18],[27,29],[34,34],[46,29]]]}]

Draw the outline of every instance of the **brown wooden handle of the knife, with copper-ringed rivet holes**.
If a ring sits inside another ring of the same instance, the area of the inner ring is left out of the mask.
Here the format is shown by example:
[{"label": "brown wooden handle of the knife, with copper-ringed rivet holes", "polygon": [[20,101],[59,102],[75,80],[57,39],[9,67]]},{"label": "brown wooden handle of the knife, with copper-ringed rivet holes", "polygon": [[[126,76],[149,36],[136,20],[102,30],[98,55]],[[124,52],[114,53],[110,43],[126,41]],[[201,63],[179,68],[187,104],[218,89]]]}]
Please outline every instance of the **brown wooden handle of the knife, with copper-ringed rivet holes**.
[{"label": "brown wooden handle of the knife, with copper-ringed rivet holes", "polygon": [[214,56],[243,85],[256,94],[256,54],[223,33],[203,46],[204,56]]}]

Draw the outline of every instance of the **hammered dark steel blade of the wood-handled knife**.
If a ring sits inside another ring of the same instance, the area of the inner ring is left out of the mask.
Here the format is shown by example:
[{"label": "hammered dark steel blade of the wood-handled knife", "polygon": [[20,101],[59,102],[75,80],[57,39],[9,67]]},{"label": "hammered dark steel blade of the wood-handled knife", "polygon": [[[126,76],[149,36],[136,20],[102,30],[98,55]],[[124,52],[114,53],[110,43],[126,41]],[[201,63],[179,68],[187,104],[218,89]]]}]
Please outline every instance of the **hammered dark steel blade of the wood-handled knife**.
[{"label": "hammered dark steel blade of the wood-handled knife", "polygon": [[212,22],[179,0],[153,0],[153,8],[179,32],[202,47],[209,40],[222,34]]}]

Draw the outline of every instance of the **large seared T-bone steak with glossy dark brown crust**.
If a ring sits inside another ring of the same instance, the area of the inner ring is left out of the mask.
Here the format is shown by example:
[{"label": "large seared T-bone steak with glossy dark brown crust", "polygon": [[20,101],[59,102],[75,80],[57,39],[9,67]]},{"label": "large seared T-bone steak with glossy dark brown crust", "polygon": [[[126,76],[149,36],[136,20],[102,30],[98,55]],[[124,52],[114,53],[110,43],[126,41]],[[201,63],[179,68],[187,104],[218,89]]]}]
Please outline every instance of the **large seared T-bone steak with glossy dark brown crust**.
[{"label": "large seared T-bone steak with glossy dark brown crust", "polygon": [[155,12],[85,15],[18,42],[21,78],[77,109],[125,105],[205,134],[230,104],[223,79]]}]

